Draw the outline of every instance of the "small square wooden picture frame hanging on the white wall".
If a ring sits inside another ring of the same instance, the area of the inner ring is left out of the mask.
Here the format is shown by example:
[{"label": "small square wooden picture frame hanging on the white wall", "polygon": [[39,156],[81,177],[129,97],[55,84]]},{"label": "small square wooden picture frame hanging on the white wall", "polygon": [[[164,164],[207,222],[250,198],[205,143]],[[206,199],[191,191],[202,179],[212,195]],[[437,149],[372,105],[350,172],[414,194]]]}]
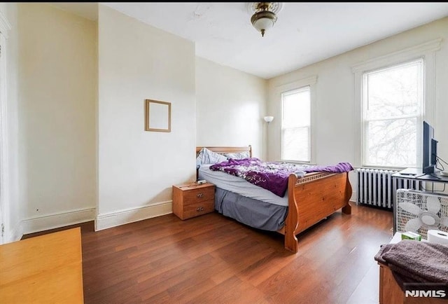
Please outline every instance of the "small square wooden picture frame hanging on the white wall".
[{"label": "small square wooden picture frame hanging on the white wall", "polygon": [[145,131],[171,132],[171,102],[145,99]]}]

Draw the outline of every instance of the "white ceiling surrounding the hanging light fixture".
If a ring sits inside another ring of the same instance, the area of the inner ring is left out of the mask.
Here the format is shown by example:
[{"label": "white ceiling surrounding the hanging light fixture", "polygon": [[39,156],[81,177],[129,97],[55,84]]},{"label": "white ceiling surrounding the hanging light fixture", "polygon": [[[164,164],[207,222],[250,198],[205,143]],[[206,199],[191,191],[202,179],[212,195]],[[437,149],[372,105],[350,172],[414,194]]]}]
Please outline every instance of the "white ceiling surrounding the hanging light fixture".
[{"label": "white ceiling surrounding the hanging light fixture", "polygon": [[[252,3],[102,4],[194,41],[199,57],[266,79],[448,16],[446,2],[283,3],[262,37],[251,25]],[[97,16],[92,3],[51,5]]]}]

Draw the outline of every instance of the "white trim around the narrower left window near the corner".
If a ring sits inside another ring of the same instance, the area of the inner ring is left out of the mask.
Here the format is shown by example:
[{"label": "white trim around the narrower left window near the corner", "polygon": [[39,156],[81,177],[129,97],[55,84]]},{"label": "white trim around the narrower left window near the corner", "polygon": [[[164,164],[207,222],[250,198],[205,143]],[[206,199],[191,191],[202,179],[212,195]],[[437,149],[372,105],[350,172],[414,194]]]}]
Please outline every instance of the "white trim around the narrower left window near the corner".
[{"label": "white trim around the narrower left window near the corner", "polygon": [[[309,86],[309,94],[310,94],[310,112],[311,112],[311,120],[310,120],[310,143],[309,143],[309,163],[305,163],[308,165],[316,164],[316,83],[317,83],[317,76],[310,76],[308,78],[303,78],[300,81],[293,81],[291,83],[286,83],[285,85],[279,85],[276,87],[277,96],[279,96],[279,102],[281,104],[281,95],[286,92],[290,92],[293,90],[300,90],[301,88]],[[282,105],[280,106],[281,109]],[[282,130],[281,130],[281,123],[279,124],[280,127],[277,130],[277,134],[280,138],[280,158],[283,154],[282,149]],[[288,163],[304,163],[304,162],[296,162],[296,161],[290,161],[290,160],[282,160],[281,161],[288,161]]]}]

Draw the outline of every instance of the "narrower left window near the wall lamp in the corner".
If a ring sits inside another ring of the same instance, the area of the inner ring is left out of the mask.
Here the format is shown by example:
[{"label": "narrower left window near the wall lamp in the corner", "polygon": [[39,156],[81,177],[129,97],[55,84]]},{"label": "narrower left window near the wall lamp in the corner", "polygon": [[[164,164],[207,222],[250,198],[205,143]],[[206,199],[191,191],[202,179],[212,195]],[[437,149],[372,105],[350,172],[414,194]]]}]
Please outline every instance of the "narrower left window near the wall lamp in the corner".
[{"label": "narrower left window near the wall lamp in the corner", "polygon": [[281,94],[281,158],[311,160],[311,90],[309,86]]}]

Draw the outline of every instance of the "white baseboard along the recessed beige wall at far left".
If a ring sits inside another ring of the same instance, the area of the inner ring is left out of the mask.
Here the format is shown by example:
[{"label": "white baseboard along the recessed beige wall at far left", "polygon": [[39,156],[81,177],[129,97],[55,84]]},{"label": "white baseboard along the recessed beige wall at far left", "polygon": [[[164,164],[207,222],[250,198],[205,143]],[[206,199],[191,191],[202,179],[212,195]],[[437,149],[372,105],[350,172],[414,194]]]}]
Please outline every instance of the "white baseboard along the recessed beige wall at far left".
[{"label": "white baseboard along the recessed beige wall at far left", "polygon": [[77,209],[59,214],[50,214],[46,216],[38,216],[32,219],[22,221],[23,233],[36,233],[38,231],[49,230],[76,223],[93,221],[95,218],[95,209]]}]

